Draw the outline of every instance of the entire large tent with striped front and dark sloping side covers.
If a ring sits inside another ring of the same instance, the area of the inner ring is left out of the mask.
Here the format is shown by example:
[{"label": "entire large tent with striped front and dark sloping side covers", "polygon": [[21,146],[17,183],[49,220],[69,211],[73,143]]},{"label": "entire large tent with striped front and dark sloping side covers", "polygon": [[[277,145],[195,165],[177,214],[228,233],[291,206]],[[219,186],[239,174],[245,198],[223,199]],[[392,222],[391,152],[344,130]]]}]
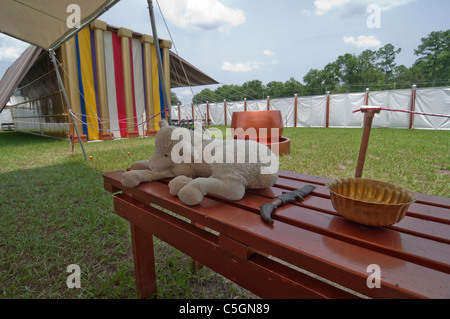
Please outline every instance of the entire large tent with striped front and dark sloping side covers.
[{"label": "entire large tent with striped front and dark sloping side covers", "polygon": [[[170,88],[186,86],[186,82],[191,86],[217,83],[171,52],[170,41],[160,39],[159,47],[169,101],[163,98],[150,35],[95,20],[56,50],[83,140],[153,135],[170,108]],[[69,110],[50,69],[49,54],[42,50],[32,57],[33,65],[24,71],[10,98],[16,129],[75,137]],[[189,80],[180,81],[185,74]]]}]

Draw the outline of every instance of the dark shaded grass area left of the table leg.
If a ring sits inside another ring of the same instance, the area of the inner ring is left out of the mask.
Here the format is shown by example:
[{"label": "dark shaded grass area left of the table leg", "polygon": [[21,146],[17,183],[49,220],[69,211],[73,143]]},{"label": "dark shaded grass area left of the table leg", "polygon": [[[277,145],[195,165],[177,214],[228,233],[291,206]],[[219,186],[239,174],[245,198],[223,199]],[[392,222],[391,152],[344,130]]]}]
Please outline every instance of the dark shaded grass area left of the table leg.
[{"label": "dark shaded grass area left of the table leg", "polygon": [[[78,162],[0,174],[3,298],[135,298],[128,224]],[[67,287],[67,266],[81,288]]]}]

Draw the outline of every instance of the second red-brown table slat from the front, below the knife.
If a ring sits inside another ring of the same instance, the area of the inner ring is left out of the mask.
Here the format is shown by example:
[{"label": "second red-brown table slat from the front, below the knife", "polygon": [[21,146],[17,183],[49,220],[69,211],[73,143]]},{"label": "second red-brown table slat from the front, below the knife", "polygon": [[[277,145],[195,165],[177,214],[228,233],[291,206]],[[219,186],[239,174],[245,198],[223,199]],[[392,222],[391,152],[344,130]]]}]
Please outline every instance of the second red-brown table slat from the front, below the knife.
[{"label": "second red-brown table slat from the front, below the knife", "polygon": [[[267,199],[247,193],[238,202],[238,206],[255,211],[265,202],[267,202]],[[439,241],[417,238],[411,234],[389,228],[365,227],[345,218],[322,214],[296,204],[278,208],[273,218],[450,273],[448,244]]]}]

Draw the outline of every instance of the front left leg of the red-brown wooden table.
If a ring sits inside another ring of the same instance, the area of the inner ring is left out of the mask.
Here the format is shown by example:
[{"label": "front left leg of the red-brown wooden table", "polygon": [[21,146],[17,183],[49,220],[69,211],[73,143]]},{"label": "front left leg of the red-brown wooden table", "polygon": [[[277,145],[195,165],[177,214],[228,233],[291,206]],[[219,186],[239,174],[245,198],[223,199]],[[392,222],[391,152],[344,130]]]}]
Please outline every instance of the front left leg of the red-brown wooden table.
[{"label": "front left leg of the red-brown wooden table", "polygon": [[152,298],[156,295],[153,236],[131,224],[131,240],[139,298]]}]

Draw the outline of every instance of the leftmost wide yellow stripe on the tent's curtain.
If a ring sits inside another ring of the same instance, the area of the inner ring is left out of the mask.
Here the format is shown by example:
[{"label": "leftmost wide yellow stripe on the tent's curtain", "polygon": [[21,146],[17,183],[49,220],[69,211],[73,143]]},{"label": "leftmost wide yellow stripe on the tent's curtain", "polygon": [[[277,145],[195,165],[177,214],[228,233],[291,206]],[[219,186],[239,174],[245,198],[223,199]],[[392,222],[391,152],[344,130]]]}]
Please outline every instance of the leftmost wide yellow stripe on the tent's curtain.
[{"label": "leftmost wide yellow stripe on the tent's curtain", "polygon": [[91,34],[89,27],[78,33],[80,46],[80,68],[83,83],[84,99],[86,101],[86,122],[89,140],[99,139],[97,119],[97,102],[95,99],[94,73],[91,55]]}]

